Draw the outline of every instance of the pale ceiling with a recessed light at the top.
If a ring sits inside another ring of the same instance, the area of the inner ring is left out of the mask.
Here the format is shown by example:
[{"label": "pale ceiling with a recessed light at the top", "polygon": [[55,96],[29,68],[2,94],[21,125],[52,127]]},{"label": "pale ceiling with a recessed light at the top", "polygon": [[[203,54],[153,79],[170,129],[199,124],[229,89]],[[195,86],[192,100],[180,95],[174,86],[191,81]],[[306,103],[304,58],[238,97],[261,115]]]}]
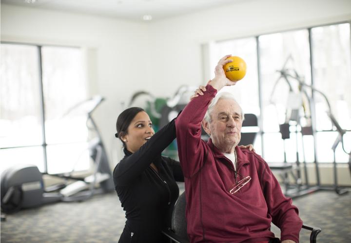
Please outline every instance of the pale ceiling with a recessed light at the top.
[{"label": "pale ceiling with a recessed light at the top", "polygon": [[156,21],[239,1],[245,0],[1,0],[1,3],[135,21]]}]

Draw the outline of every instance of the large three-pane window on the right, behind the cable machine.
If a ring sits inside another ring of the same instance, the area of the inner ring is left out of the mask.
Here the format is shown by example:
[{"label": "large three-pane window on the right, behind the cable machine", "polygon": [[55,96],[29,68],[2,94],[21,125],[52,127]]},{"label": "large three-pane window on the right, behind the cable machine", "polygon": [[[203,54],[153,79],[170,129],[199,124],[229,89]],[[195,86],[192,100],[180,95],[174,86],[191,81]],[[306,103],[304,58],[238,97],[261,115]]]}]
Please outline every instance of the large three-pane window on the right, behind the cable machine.
[{"label": "large three-pane window on the right, behind the cable machine", "polygon": [[[345,148],[351,148],[350,47],[349,23],[210,45],[211,67],[215,67],[218,59],[228,53],[238,55],[247,62],[245,79],[228,89],[236,94],[245,113],[249,111],[260,116],[262,137],[258,139],[262,143],[255,143],[254,146],[262,144],[261,154],[267,162],[283,162],[284,157],[288,162],[295,162],[297,154],[299,161],[313,162],[314,142],[317,161],[333,161],[331,147],[338,132],[328,116],[329,108],[324,95],[336,121],[347,130]],[[257,62],[260,64],[259,70]],[[312,92],[311,87],[318,91]],[[261,100],[258,89],[261,90]],[[312,102],[309,101],[311,97]],[[312,125],[313,111],[316,120],[314,139],[301,133],[302,128]],[[294,117],[297,121],[294,121]],[[283,140],[279,124],[286,122],[290,123],[290,139]],[[335,152],[337,162],[348,161],[341,144]]]}]

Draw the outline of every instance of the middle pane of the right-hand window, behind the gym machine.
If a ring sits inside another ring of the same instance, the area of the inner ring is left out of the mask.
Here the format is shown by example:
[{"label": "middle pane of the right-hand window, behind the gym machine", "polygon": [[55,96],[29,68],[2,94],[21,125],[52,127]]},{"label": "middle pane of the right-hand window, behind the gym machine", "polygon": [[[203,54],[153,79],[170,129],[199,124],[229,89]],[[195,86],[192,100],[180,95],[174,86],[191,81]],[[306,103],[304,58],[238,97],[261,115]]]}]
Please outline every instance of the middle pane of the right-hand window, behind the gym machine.
[{"label": "middle pane of the right-hand window, behind the gym machine", "polygon": [[[307,30],[299,30],[261,35],[258,41],[264,156],[267,161],[281,162],[285,151],[286,160],[293,162],[296,161],[300,134],[292,133],[290,139],[282,140],[279,124],[289,121],[291,107],[288,99],[299,94],[299,84],[297,80],[285,79],[282,71],[296,71],[307,84],[311,84],[309,34]],[[274,148],[276,146],[278,149]]]}]

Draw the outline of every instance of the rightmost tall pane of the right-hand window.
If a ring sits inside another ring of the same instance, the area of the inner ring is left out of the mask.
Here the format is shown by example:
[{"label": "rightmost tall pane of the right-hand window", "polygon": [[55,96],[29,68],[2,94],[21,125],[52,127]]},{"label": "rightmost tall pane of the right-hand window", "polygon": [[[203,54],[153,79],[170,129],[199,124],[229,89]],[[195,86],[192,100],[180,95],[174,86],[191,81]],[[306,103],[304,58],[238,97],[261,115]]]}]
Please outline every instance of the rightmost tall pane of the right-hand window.
[{"label": "rightmost tall pane of the right-hand window", "polygon": [[[314,87],[331,104],[331,113],[343,129],[351,129],[351,50],[350,24],[312,28]],[[330,130],[328,106],[315,93],[317,130]]]}]

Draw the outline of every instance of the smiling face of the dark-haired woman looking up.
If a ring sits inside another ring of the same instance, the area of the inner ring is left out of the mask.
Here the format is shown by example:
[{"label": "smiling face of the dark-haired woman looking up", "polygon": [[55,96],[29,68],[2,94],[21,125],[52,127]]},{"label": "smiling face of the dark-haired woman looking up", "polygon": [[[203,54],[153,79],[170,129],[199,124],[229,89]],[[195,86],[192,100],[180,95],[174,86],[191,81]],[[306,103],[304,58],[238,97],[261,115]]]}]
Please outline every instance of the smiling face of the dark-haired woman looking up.
[{"label": "smiling face of the dark-haired woman looking up", "polygon": [[135,153],[154,134],[149,115],[145,111],[140,111],[129,124],[127,134],[122,140],[128,151]]}]

